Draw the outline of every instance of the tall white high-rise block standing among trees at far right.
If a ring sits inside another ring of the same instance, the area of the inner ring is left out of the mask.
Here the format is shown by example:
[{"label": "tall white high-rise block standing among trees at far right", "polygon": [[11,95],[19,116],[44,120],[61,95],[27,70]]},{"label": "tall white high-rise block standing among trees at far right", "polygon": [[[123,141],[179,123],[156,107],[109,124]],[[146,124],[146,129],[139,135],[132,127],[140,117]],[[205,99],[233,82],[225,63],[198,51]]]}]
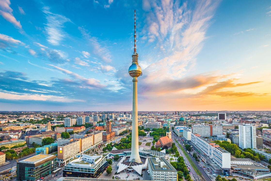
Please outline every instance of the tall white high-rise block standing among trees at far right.
[{"label": "tall white high-rise block standing among trees at far right", "polygon": [[239,147],[256,148],[256,127],[251,124],[239,125]]}]

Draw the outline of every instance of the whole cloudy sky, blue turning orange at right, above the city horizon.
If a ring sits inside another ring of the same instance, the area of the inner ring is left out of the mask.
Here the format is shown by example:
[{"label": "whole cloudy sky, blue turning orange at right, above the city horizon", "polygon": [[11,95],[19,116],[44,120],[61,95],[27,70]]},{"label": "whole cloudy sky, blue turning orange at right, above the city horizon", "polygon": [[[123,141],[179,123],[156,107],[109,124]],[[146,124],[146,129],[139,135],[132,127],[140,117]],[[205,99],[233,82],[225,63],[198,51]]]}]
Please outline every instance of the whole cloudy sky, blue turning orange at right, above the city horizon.
[{"label": "whole cloudy sky, blue turning orange at right, above the city horizon", "polygon": [[0,0],[0,110],[270,110],[270,1]]}]

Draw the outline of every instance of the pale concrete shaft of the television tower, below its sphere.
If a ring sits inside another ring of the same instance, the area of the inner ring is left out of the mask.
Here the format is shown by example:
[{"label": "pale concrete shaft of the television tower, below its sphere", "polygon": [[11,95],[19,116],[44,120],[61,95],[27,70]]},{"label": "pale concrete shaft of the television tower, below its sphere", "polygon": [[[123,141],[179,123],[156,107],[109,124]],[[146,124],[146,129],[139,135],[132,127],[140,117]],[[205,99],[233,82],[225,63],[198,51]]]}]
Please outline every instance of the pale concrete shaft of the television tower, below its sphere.
[{"label": "pale concrete shaft of the television tower, below its sphere", "polygon": [[132,148],[129,161],[141,163],[138,150],[137,77],[133,77]]}]

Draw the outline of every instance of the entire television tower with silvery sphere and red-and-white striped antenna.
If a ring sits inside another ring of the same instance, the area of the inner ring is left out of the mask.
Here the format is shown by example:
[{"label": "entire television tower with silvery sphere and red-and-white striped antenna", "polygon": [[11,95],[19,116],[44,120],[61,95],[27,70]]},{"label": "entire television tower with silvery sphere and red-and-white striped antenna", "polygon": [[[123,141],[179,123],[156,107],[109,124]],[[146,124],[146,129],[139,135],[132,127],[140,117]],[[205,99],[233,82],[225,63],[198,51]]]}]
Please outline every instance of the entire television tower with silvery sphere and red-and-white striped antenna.
[{"label": "entire television tower with silvery sphere and red-and-white striped antenna", "polygon": [[[135,25],[134,25],[135,28]],[[137,118],[137,77],[142,75],[141,67],[138,65],[138,54],[136,52],[136,35],[134,34],[134,54],[129,74],[133,77],[133,120],[132,120],[132,151],[129,161],[141,163],[138,150],[138,118]]]}]

